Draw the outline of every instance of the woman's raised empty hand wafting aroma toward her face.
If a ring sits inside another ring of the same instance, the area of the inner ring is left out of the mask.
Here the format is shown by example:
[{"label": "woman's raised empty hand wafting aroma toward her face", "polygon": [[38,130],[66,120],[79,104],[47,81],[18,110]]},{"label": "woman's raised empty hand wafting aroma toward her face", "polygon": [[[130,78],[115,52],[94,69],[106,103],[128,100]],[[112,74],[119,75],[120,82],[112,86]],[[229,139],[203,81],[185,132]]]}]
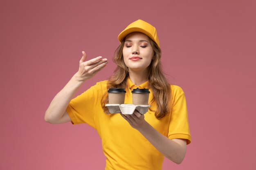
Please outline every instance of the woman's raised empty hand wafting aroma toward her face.
[{"label": "woman's raised empty hand wafting aroma toward her face", "polygon": [[85,81],[92,78],[96,73],[98,73],[102,68],[104,68],[108,59],[102,58],[101,56],[93,58],[91,60],[85,61],[86,53],[82,51],[83,57],[79,61],[79,70],[76,73],[79,81]]}]

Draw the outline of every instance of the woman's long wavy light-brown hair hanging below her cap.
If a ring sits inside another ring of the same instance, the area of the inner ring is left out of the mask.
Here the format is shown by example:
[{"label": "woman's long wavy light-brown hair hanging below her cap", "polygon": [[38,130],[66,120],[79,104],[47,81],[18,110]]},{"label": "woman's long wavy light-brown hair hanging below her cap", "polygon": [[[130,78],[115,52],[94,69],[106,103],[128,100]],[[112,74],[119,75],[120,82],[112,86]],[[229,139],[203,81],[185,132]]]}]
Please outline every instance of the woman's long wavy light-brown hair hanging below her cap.
[{"label": "woman's long wavy light-brown hair hanging below her cap", "polygon": [[[162,64],[161,64],[161,49],[157,44],[151,39],[148,38],[150,45],[154,51],[154,60],[151,61],[149,67],[149,74],[148,74],[148,84],[150,86],[150,90],[153,93],[153,100],[150,101],[157,103],[157,108],[155,111],[155,117],[160,119],[165,117],[171,110],[171,88],[168,80],[166,79],[164,72],[162,71]],[[123,56],[123,48],[124,48],[124,40],[118,46],[115,51],[115,55],[113,58],[113,62],[117,64],[117,68],[115,68],[114,73],[110,77],[107,88],[125,88],[128,89],[127,86],[127,78],[129,77],[128,67],[124,63],[124,56]],[[106,92],[102,99],[101,99],[101,107],[103,108],[104,112],[108,112],[108,108],[105,106],[108,104],[108,92]],[[151,110],[151,109],[150,109]]]}]

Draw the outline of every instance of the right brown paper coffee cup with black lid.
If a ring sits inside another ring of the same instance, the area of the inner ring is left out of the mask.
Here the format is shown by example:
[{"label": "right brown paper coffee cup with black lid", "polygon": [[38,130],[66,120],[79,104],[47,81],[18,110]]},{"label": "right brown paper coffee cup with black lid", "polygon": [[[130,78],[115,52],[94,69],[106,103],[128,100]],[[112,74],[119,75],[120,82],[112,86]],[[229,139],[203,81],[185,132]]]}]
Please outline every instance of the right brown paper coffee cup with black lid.
[{"label": "right brown paper coffee cup with black lid", "polygon": [[132,104],[148,105],[149,93],[150,93],[150,91],[148,88],[132,89]]}]

